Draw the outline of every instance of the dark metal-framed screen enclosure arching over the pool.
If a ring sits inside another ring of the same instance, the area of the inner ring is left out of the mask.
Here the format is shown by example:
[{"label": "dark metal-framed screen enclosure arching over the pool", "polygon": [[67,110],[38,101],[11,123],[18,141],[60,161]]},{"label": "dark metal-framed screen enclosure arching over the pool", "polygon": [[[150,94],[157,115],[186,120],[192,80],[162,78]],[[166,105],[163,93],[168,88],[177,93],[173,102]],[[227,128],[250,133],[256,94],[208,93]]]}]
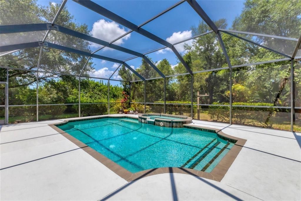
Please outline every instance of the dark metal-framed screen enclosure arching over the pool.
[{"label": "dark metal-framed screen enclosure arching over the pool", "polygon": [[301,131],[300,1],[0,8],[2,124],[137,110]]}]

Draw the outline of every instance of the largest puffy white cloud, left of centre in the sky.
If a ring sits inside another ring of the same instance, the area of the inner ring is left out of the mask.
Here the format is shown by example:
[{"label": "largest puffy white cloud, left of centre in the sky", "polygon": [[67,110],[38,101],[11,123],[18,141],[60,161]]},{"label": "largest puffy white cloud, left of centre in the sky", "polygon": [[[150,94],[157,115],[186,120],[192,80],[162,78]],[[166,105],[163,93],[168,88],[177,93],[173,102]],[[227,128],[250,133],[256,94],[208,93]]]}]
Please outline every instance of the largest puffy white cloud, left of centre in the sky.
[{"label": "largest puffy white cloud, left of centre in the sky", "polygon": [[[94,22],[92,31],[90,34],[98,39],[105,40],[107,42],[111,42],[112,40],[118,38],[119,36],[126,33],[124,28],[119,27],[119,24],[116,22],[105,21],[104,19],[98,20]],[[120,45],[124,43],[124,40],[127,40],[131,37],[131,34],[128,34],[121,39],[114,42],[116,45]],[[101,47],[98,44],[92,44],[92,46]]]}]

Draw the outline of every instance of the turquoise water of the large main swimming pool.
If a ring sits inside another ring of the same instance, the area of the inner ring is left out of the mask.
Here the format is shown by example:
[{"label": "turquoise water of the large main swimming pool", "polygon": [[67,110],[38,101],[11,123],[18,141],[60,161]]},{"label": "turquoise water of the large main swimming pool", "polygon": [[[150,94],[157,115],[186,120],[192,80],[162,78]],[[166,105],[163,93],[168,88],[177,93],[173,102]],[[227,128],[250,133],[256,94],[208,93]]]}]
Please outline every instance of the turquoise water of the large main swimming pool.
[{"label": "turquoise water of the large main swimming pool", "polygon": [[58,126],[97,152],[135,173],[161,167],[211,172],[234,145],[216,133],[103,118]]}]

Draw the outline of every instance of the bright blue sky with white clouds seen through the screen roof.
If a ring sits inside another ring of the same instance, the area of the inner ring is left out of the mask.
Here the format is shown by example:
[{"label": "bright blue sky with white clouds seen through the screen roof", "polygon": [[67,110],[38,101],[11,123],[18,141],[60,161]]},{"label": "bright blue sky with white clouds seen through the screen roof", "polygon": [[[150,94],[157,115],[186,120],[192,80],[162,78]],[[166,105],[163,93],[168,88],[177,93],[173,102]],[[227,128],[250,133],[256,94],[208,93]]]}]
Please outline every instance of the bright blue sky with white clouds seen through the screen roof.
[{"label": "bright blue sky with white clouds seen through the screen roof", "polygon": [[[40,5],[47,5],[49,2],[59,3],[60,1],[38,0],[38,4]],[[174,5],[178,1],[94,0],[94,2],[110,11],[115,12],[123,18],[132,21],[134,24],[139,25],[166,8]],[[225,18],[228,23],[227,28],[231,28],[232,21],[240,14],[244,7],[244,1],[199,0],[197,2],[213,21],[220,18]],[[129,29],[126,27],[123,27],[122,25],[103,17],[98,13],[95,13],[94,11],[77,4],[72,0],[68,0],[65,6],[74,16],[74,21],[76,23],[88,25],[90,34],[93,37],[110,42],[129,31]],[[175,43],[192,37],[193,34],[191,32],[191,27],[197,26],[200,21],[202,21],[202,19],[199,17],[199,15],[190,7],[187,2],[184,2],[154,21],[144,25],[142,28],[164,40],[167,40],[170,43]],[[135,32],[123,37],[114,44],[140,53],[147,53],[151,50],[163,47],[161,44]],[[92,44],[90,48],[92,51],[94,51],[100,48],[100,46],[97,44]],[[180,53],[183,53],[183,45],[178,45],[176,48]],[[132,57],[132,55],[127,53],[109,48],[104,48],[101,51],[98,51],[96,54],[119,60],[125,60]],[[150,56],[154,62],[158,62],[166,58],[172,65],[177,63],[176,56],[172,51],[169,50],[161,50],[151,53],[148,56]],[[95,63],[96,71],[91,73],[91,76],[102,76],[107,78],[107,76],[116,69],[116,64],[113,62],[106,62],[100,59],[93,59],[93,62]],[[140,66],[141,59],[128,61],[128,64],[136,69]],[[115,76],[115,78],[118,79],[117,76]]]}]

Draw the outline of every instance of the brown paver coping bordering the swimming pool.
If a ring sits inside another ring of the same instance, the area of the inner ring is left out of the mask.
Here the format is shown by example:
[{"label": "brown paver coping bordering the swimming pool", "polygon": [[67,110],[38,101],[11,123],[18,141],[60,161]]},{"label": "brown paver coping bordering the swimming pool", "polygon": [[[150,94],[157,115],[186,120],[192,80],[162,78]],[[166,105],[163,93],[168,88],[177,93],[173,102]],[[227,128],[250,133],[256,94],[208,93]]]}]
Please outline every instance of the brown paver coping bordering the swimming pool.
[{"label": "brown paver coping bordering the swimming pool", "polygon": [[122,177],[123,179],[127,180],[128,182],[133,180],[138,180],[143,177],[155,175],[155,174],[163,174],[163,173],[182,173],[182,174],[191,174],[197,177],[203,177],[206,179],[211,179],[215,181],[221,181],[222,178],[227,173],[228,169],[230,168],[231,164],[239,154],[240,150],[243,148],[244,144],[246,143],[246,139],[241,139],[233,136],[229,136],[221,131],[221,129],[213,129],[203,126],[195,126],[191,124],[185,124],[185,128],[190,129],[196,129],[196,130],[203,130],[207,132],[216,132],[219,137],[225,140],[229,140],[230,142],[235,142],[234,146],[229,150],[229,152],[222,158],[222,160],[216,165],[215,168],[209,173],[204,171],[198,171],[194,169],[188,169],[188,168],[178,168],[178,167],[171,167],[171,168],[154,168],[150,170],[144,170],[136,173],[131,173],[130,171],[126,170],[125,168],[121,167],[120,165],[116,164],[109,158],[105,157],[101,153],[95,151],[88,145],[84,144],[83,142],[79,141],[78,139],[74,138],[67,132],[59,129],[55,125],[64,125],[68,122],[73,121],[84,121],[84,120],[91,120],[91,119],[102,119],[102,118],[120,118],[120,117],[126,117],[131,119],[138,119],[138,117],[135,116],[125,116],[125,115],[118,115],[118,116],[99,116],[99,117],[93,117],[93,118],[77,118],[72,120],[65,120],[64,123],[54,123],[54,124],[48,124],[51,128],[56,130],[57,132],[61,133],[65,138],[82,148],[85,152],[87,152],[89,155],[91,155],[93,158],[104,164],[107,168],[109,168],[111,171]]}]

